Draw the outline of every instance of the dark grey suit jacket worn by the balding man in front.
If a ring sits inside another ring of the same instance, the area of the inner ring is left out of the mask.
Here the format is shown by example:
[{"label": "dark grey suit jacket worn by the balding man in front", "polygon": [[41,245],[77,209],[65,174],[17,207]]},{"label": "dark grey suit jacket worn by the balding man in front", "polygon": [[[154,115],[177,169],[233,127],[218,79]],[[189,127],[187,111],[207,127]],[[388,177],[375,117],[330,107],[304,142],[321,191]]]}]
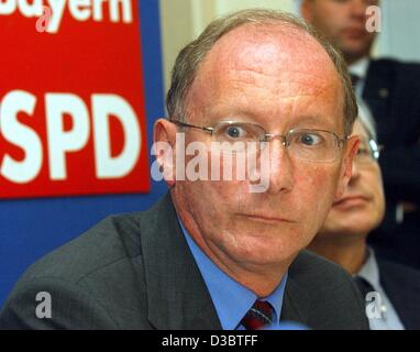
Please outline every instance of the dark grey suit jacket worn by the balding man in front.
[{"label": "dark grey suit jacket worn by the balding man in front", "polygon": [[[52,318],[35,317],[36,294]],[[281,319],[313,329],[368,329],[351,277],[302,252],[289,268]],[[221,329],[169,196],[145,212],[110,217],[23,275],[2,329]]]}]

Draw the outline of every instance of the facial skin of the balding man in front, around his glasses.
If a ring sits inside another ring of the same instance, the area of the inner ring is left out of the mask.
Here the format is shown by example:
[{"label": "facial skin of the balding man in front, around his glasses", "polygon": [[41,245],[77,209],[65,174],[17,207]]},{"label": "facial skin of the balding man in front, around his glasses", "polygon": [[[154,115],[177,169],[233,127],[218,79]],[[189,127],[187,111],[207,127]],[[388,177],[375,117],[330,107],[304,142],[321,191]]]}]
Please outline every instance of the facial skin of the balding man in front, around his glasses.
[{"label": "facial skin of the balding man in front, around his glasses", "polygon": [[[277,134],[306,128],[343,138],[342,91],[330,57],[309,35],[284,25],[243,25],[207,54],[186,99],[188,123],[235,120]],[[186,130],[187,144],[209,139]],[[290,157],[280,139],[274,139],[265,193],[250,193],[247,180],[177,182],[173,198],[178,215],[228,273],[235,265],[291,261],[344,189],[351,162],[342,163],[342,156],[351,160],[353,144],[333,162],[309,162]]]}]

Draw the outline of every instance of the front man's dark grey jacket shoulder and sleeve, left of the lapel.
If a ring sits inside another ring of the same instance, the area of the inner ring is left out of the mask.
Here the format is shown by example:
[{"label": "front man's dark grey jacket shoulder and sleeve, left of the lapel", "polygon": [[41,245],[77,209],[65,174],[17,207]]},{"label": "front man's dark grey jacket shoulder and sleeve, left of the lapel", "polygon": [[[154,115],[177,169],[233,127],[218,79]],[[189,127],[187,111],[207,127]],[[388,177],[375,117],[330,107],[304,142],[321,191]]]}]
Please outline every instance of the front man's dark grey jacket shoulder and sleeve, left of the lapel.
[{"label": "front man's dark grey jacket shoulder and sleeve, left of the lapel", "polygon": [[[147,329],[140,213],[109,217],[22,275],[0,314],[1,329]],[[52,318],[36,316],[40,293]]]}]

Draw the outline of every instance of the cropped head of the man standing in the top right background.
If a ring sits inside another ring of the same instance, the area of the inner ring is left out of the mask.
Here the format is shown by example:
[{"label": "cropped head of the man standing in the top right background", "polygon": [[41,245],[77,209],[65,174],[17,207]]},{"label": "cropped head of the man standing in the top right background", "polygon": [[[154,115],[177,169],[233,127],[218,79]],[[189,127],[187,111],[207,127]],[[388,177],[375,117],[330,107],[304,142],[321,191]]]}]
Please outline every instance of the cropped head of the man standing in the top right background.
[{"label": "cropped head of the man standing in the top right background", "polygon": [[301,14],[344,55],[347,64],[368,56],[375,32],[366,30],[366,9],[379,0],[302,0]]}]

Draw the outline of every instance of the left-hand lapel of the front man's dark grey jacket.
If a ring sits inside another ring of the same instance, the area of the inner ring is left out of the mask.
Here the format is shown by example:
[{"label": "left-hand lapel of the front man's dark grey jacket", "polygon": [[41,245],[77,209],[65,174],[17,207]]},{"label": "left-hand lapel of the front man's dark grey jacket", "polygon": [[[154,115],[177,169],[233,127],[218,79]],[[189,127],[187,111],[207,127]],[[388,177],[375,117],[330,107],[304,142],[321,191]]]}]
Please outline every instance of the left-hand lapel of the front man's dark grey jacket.
[{"label": "left-hand lapel of the front man's dark grey jacket", "polygon": [[148,320],[156,329],[221,329],[169,194],[141,219]]}]

